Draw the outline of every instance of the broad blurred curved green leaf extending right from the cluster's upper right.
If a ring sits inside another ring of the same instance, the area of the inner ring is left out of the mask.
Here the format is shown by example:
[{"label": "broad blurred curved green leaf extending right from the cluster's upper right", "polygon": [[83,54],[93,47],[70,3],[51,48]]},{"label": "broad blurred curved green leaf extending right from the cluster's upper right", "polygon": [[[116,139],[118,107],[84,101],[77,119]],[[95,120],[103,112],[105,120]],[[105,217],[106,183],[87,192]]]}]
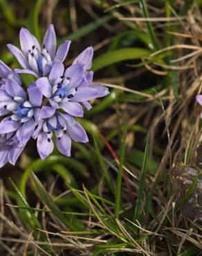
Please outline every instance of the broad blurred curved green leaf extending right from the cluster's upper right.
[{"label": "broad blurred curved green leaf extending right from the cluster's upper right", "polygon": [[147,57],[150,53],[151,51],[148,51],[145,48],[122,48],[116,51],[110,51],[97,57],[93,61],[92,70],[98,71],[101,68],[125,60],[137,60],[141,57]]}]

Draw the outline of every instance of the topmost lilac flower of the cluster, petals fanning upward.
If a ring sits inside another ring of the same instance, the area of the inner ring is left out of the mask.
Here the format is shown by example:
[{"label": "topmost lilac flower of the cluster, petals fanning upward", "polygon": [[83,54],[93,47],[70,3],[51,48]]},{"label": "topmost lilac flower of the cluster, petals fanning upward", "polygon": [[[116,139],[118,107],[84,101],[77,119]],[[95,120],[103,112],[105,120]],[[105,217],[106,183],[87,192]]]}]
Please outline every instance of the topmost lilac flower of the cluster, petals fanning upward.
[{"label": "topmost lilac flower of the cluster, petals fanning upward", "polygon": [[7,45],[23,68],[17,68],[15,71],[17,73],[29,73],[35,77],[47,75],[54,62],[63,62],[71,44],[71,41],[66,40],[56,51],[56,35],[53,24],[50,24],[46,30],[42,48],[37,38],[26,28],[21,28],[19,41],[21,51],[12,44]]}]

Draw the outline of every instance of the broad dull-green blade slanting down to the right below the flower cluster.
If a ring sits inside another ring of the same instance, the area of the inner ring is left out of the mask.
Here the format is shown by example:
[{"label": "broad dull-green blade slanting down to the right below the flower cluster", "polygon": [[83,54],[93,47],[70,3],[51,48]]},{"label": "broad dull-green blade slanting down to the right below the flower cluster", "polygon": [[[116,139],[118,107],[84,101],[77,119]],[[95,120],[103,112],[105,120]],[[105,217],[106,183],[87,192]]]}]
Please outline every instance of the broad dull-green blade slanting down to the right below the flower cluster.
[{"label": "broad dull-green blade slanting down to the right below the flower cluster", "polygon": [[42,185],[41,181],[37,178],[37,176],[32,172],[33,181],[35,183],[35,186],[37,188],[37,192],[40,196],[40,199],[44,201],[44,203],[48,206],[49,210],[57,217],[59,221],[64,223],[65,226],[70,228],[71,230],[75,230],[72,223],[68,222],[66,217],[64,217],[64,214],[62,214],[61,210],[59,210],[57,204],[51,199],[50,195]]}]

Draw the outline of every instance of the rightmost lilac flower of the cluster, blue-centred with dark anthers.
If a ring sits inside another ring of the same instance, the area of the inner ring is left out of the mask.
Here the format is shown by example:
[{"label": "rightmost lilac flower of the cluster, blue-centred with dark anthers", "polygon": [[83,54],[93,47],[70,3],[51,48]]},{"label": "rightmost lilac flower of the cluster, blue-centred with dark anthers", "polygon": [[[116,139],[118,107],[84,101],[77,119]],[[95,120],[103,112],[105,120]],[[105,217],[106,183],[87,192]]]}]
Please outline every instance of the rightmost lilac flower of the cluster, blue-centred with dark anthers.
[{"label": "rightmost lilac flower of the cluster, blue-centred with dark anthers", "polygon": [[48,98],[53,109],[62,109],[71,116],[82,117],[82,105],[90,109],[89,100],[109,93],[107,87],[92,83],[93,72],[86,69],[91,67],[92,57],[93,48],[86,48],[65,71],[62,62],[55,62],[49,77],[40,77],[36,81],[37,88]]}]

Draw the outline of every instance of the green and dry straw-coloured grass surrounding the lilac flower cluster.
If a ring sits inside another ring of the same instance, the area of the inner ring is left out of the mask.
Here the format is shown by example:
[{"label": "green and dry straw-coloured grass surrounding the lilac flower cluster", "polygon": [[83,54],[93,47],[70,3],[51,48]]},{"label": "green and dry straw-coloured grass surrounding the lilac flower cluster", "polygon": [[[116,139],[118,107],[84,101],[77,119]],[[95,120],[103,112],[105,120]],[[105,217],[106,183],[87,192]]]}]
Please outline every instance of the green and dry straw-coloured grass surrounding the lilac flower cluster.
[{"label": "green and dry straw-coloured grass surrounding the lilac flower cluster", "polygon": [[[79,120],[87,145],[45,161],[31,141],[0,171],[0,255],[202,255],[202,1],[0,1],[0,58],[19,29],[93,46],[107,98]],[[28,84],[33,77],[24,76]]]}]

